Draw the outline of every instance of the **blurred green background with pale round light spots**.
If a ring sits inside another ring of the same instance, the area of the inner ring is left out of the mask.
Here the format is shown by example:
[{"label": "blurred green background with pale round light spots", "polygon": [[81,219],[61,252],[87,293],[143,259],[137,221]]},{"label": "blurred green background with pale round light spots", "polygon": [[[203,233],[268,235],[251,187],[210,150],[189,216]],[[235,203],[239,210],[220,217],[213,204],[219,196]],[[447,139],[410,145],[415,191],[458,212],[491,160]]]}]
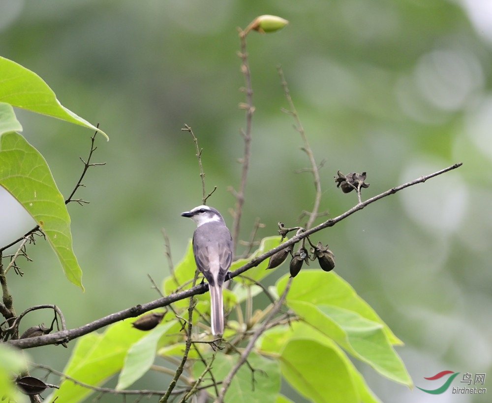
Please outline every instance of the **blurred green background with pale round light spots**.
[{"label": "blurred green background with pale round light spots", "polygon": [[[256,217],[265,224],[260,236],[275,235],[278,221],[296,225],[313,203],[310,175],[294,173],[308,161],[293,121],[280,111],[287,106],[281,64],[316,160],[326,159],[321,209],[331,216],[356,203],[355,194],[336,188],[338,169],[367,171],[369,198],[463,162],[370,205],[319,240],[334,251],[337,273],[405,343],[398,352],[416,385],[439,387],[424,377],[444,369],[486,373],[479,386],[492,385],[491,4],[1,0],[0,55],[39,74],[63,105],[110,136],[96,137],[93,160],[107,165],[91,168],[76,195],[91,203],[69,205],[86,292],[63,277],[49,245],[38,241],[28,250],[34,262],[20,262],[25,275],[9,274],[17,312],[56,303],[73,328],[157,298],[147,274],[160,284],[169,273],[161,229],[176,264],[194,230],[180,213],[201,204],[185,123],[203,147],[208,189],[217,186],[209,204],[232,224],[227,188],[239,186],[245,126],[236,27],[276,14],[290,24],[248,36],[256,112],[241,237],[249,237]],[[18,117],[67,196],[92,133],[21,110]],[[1,190],[0,243],[32,226]],[[26,327],[50,322],[47,313],[30,317]],[[73,344],[29,353],[61,370]],[[492,393],[429,395],[358,368],[383,402],[489,402]],[[155,388],[156,379],[135,386]],[[458,379],[452,386],[468,386]]]}]

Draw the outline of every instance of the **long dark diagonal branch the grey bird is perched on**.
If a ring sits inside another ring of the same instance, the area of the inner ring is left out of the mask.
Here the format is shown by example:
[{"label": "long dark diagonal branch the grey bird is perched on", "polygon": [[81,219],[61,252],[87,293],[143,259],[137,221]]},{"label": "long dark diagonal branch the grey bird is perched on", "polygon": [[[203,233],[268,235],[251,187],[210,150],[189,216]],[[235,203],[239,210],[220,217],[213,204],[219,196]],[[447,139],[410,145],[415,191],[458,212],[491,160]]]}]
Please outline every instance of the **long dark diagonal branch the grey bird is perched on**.
[{"label": "long dark diagonal branch the grey bird is perched on", "polygon": [[[412,180],[410,182],[404,183],[400,186],[393,187],[391,189],[388,189],[386,192],[380,193],[379,195],[376,195],[366,201],[362,201],[358,204],[356,204],[354,207],[350,208],[349,210],[345,211],[343,214],[340,214],[338,217],[329,219],[313,228],[310,228],[306,230],[305,232],[301,232],[300,234],[294,235],[292,238],[289,240],[281,243],[277,247],[270,249],[269,251],[263,253],[262,255],[257,256],[254,259],[251,259],[248,263],[245,265],[241,266],[239,269],[234,270],[231,272],[231,278],[236,277],[248,269],[251,269],[253,267],[258,266],[261,262],[263,262],[265,259],[268,259],[270,256],[274,255],[278,251],[286,248],[287,246],[293,245],[294,243],[299,242],[300,240],[306,238],[307,236],[314,234],[318,231],[321,231],[325,228],[328,227],[333,227],[335,224],[340,222],[341,220],[347,218],[348,216],[354,214],[355,212],[362,210],[364,207],[368,206],[369,204],[378,201],[380,199],[383,199],[389,195],[393,195],[400,190],[403,190],[405,188],[408,188],[410,186],[416,185],[418,183],[424,183],[428,179],[431,179],[435,176],[441,175],[445,172],[448,172],[450,170],[456,169],[461,167],[462,163],[458,163],[455,165],[452,165],[448,168],[441,169],[437,172],[431,173],[429,175],[421,176],[420,178],[417,178],[415,180]],[[131,308],[124,309],[120,312],[113,313],[111,315],[105,316],[103,318],[97,319],[92,323],[86,324],[84,326],[81,326],[80,328],[75,328],[71,330],[66,330],[66,331],[60,331],[56,333],[52,333],[49,335],[44,335],[44,336],[37,336],[37,337],[32,337],[28,339],[19,339],[19,340],[9,340],[7,341],[8,344],[12,346],[16,346],[18,348],[32,348],[32,347],[37,347],[41,345],[48,345],[48,344],[59,344],[62,342],[67,342],[69,340],[72,340],[74,338],[80,337],[87,335],[88,333],[91,333],[95,330],[98,330],[104,326],[110,325],[112,323],[118,322],[123,319],[135,317],[138,315],[141,315],[142,313],[145,313],[147,311],[150,311],[155,308],[160,308],[163,306],[167,306],[173,302],[181,301],[185,298],[189,298],[194,295],[198,294],[204,294],[208,291],[208,284],[207,283],[201,283],[197,284],[194,287],[191,287],[187,290],[180,291],[175,294],[171,294],[169,296],[166,296],[164,298],[159,298],[155,301],[152,302],[147,302],[142,305],[136,305]]]}]

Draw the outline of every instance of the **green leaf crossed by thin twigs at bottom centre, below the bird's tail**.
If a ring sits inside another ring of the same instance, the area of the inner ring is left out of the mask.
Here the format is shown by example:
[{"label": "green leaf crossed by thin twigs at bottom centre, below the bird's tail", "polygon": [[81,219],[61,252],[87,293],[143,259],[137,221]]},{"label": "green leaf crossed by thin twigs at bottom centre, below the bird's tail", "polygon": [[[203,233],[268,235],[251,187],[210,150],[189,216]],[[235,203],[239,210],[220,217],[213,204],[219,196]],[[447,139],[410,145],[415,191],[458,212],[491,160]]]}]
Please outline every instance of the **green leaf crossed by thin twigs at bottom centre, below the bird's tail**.
[{"label": "green leaf crossed by thin twigs at bottom centre, below the bird's tail", "polygon": [[[222,381],[232,367],[236,365],[237,359],[238,356],[236,355],[231,356],[221,354],[220,352],[217,353],[212,365],[215,380]],[[280,369],[277,361],[262,357],[254,352],[249,354],[247,360],[251,368],[256,370],[252,374],[248,366],[243,365],[232,379],[230,387],[225,394],[224,402],[275,402],[278,392],[280,391]],[[203,363],[197,361],[193,366],[193,376],[198,378],[202,375],[204,369],[205,366]],[[207,374],[204,376],[205,378],[209,377]],[[220,390],[220,385],[218,385],[218,388]],[[215,396],[214,387],[208,388],[207,391]]]}]

